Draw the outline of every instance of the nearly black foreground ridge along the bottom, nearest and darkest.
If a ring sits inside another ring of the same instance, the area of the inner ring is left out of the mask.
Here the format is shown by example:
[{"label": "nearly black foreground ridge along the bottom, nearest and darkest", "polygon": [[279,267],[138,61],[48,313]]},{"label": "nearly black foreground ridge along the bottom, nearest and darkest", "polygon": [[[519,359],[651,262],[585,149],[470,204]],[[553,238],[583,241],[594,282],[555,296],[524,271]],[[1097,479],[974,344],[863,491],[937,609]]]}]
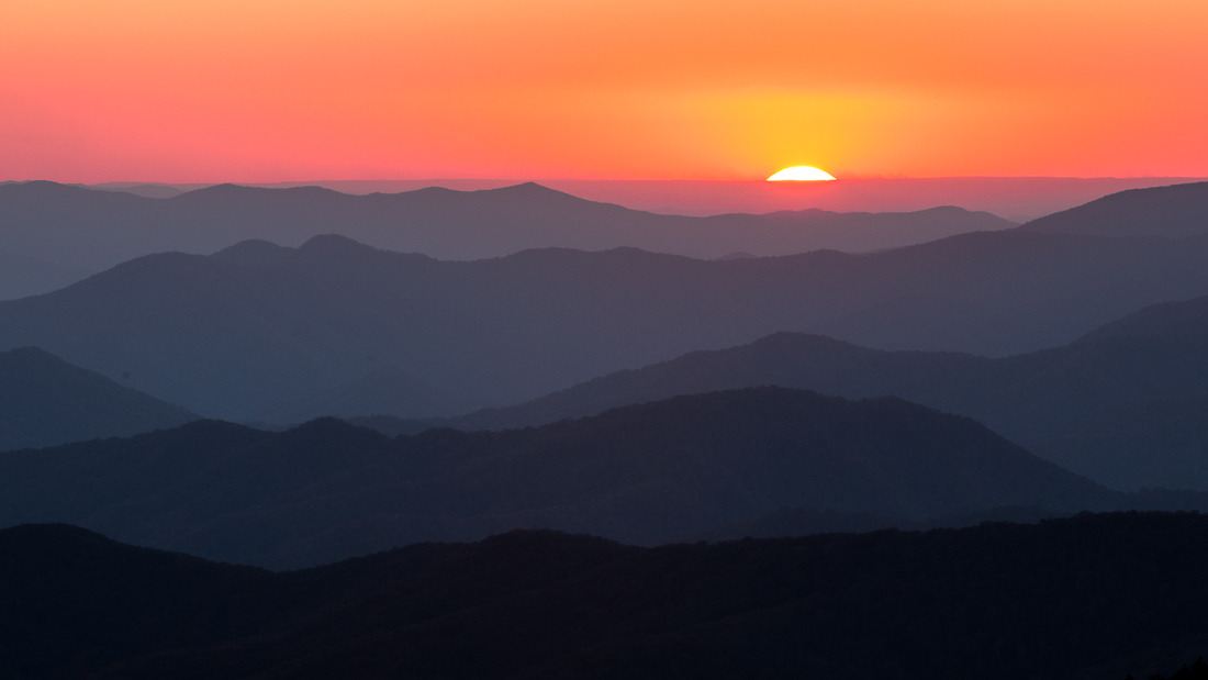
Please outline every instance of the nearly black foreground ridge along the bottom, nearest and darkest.
[{"label": "nearly black foreground ridge along the bottom, nearest and darkest", "polygon": [[69,527],[0,531],[6,676],[1016,678],[1208,645],[1208,519],[626,547],[511,533],[268,574]]}]

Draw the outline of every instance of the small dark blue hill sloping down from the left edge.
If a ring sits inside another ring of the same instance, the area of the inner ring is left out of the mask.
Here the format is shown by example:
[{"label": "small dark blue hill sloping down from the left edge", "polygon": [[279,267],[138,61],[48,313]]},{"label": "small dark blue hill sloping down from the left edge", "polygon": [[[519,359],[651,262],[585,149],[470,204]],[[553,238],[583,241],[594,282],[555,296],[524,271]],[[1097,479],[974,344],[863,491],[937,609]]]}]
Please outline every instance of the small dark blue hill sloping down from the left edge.
[{"label": "small dark blue hill sloping down from the left edge", "polygon": [[129,436],[196,419],[40,349],[0,353],[0,451]]}]

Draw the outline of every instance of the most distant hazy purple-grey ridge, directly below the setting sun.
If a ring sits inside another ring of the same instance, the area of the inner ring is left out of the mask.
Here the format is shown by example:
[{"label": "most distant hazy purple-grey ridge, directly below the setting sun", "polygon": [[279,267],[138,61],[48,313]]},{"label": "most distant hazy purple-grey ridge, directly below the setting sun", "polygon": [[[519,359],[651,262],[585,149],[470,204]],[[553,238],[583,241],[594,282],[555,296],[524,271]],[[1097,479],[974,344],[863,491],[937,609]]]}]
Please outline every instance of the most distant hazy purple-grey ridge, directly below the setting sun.
[{"label": "most distant hazy purple-grey ridge, directly below the setting sun", "polygon": [[[170,188],[170,187],[168,187]],[[390,250],[446,260],[530,248],[634,246],[696,257],[734,250],[786,255],[821,248],[873,250],[1014,226],[988,213],[827,213],[686,217],[596,203],[534,184],[498,190],[425,188],[352,196],[319,187],[217,185],[170,198],[46,181],[0,185],[0,252],[54,262],[37,275],[0,269],[0,300],[47,292],[138,256],[213,252],[265,239],[300,245],[338,233]]]}]

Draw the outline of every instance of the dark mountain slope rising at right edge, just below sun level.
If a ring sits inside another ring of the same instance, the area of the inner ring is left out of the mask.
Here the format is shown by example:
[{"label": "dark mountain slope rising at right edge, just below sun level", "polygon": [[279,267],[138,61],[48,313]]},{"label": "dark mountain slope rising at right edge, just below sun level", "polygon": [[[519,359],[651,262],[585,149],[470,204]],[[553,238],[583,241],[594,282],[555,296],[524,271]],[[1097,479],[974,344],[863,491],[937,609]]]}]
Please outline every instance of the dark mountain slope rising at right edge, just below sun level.
[{"label": "dark mountain slope rising at right edge, just below sun level", "polygon": [[1208,233],[1208,182],[1121,191],[1020,228],[1113,237],[1203,234]]}]

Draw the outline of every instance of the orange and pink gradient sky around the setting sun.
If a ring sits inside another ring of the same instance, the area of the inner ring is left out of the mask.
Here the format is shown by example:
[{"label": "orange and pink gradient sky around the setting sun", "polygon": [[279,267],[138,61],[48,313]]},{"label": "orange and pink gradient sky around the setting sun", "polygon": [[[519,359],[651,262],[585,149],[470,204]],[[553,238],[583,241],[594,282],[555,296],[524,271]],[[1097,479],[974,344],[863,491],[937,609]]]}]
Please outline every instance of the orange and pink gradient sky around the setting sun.
[{"label": "orange and pink gradient sky around the setting sun", "polygon": [[1208,175],[1203,0],[0,0],[0,180]]}]

